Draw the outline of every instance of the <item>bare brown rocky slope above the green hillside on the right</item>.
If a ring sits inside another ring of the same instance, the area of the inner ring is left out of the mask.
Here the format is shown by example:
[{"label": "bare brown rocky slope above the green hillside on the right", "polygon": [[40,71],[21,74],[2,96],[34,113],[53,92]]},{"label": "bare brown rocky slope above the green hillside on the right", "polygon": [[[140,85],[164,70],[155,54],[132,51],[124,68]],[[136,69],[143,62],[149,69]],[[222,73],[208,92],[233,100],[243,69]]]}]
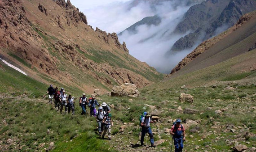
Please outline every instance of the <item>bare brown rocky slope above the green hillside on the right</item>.
[{"label": "bare brown rocky slope above the green hillside on the right", "polygon": [[[187,73],[206,68],[247,52],[250,48],[253,49],[255,46],[255,25],[255,11],[242,16],[233,27],[197,46],[194,51],[182,59],[182,61],[172,69],[170,74],[172,75],[180,71],[188,64],[191,64],[190,67],[186,67],[186,69],[182,70],[183,73],[186,70]],[[248,39],[245,40],[246,38]],[[225,55],[221,53],[227,51],[229,48],[231,49],[230,52],[225,53]],[[191,63],[192,61],[193,63]],[[193,66],[193,68],[191,68],[191,66]],[[188,68],[190,70],[188,70]]]}]

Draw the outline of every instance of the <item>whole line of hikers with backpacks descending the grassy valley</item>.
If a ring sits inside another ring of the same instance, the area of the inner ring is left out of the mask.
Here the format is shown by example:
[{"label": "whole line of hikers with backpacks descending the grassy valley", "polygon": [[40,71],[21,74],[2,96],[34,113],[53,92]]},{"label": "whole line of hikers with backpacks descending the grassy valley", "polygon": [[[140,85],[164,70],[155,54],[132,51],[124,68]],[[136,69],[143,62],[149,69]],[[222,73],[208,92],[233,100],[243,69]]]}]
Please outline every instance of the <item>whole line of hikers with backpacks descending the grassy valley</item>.
[{"label": "whole line of hikers with backpacks descending the grassy valley", "polygon": [[[75,100],[74,98],[69,95],[67,96],[65,93],[65,89],[61,88],[58,91],[58,88],[53,88],[51,84],[48,88],[47,93],[49,94],[49,102],[55,104],[55,109],[60,110],[62,114],[63,106],[65,106],[65,113],[67,114],[71,112],[75,114]],[[96,111],[96,105],[99,107]],[[107,136],[108,139],[111,140],[111,127],[114,126],[112,121],[112,114],[110,113],[110,107],[103,102],[101,105],[97,102],[95,97],[90,97],[87,99],[86,94],[83,93],[82,97],[79,97],[79,106],[81,106],[81,115],[86,115],[86,106],[90,109],[90,116],[96,118],[98,132],[99,135],[104,136],[108,132]],[[154,123],[156,120],[152,120],[150,113],[144,112],[140,117],[140,127],[141,127],[141,146],[145,146],[144,137],[146,133],[150,136],[150,143],[151,147],[156,147],[154,145],[154,137],[153,132],[150,128],[150,123]],[[103,132],[103,134],[102,134]],[[172,140],[174,140],[175,145],[175,152],[182,152],[183,149],[183,142],[185,141],[185,128],[181,125],[181,119],[177,119],[176,122],[172,124],[172,128],[170,129],[170,134],[172,135]]]}]

